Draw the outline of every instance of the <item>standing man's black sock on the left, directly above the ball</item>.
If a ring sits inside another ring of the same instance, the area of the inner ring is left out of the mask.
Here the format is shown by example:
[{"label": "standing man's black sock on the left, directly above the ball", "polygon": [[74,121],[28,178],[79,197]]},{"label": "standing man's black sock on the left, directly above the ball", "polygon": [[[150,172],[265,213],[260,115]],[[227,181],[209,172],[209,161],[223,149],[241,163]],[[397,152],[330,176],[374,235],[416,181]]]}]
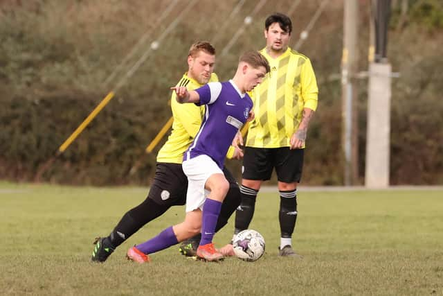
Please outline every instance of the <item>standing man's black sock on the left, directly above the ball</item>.
[{"label": "standing man's black sock on the left, directly above the ball", "polygon": [[235,211],[235,234],[248,229],[249,223],[251,223],[254,216],[255,199],[257,198],[258,190],[242,185],[240,193],[242,193],[242,202],[237,211]]}]

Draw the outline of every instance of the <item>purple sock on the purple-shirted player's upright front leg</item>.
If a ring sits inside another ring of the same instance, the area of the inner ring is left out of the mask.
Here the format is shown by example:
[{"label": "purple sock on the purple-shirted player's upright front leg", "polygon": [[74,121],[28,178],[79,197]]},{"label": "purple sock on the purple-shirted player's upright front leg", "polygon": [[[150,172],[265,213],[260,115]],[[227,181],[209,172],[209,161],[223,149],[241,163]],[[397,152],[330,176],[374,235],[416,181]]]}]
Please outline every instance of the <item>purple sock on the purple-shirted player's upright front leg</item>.
[{"label": "purple sock on the purple-shirted player's upright front leg", "polygon": [[219,218],[221,202],[206,198],[203,205],[203,216],[201,218],[201,241],[200,245],[212,243],[215,234],[215,225]]}]

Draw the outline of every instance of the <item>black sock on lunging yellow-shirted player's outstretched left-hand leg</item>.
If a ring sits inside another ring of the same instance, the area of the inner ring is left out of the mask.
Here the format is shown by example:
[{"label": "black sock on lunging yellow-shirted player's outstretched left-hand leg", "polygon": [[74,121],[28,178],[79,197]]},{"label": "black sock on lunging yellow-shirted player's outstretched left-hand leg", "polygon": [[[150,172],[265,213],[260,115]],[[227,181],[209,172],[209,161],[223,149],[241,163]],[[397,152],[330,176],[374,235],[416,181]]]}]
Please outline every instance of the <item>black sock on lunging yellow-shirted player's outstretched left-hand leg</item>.
[{"label": "black sock on lunging yellow-shirted player's outstretched left-hand leg", "polygon": [[161,216],[169,208],[169,206],[157,204],[151,198],[146,198],[137,207],[127,211],[111,234],[109,234],[109,241],[114,247],[118,247],[132,234],[136,233],[138,229]]}]

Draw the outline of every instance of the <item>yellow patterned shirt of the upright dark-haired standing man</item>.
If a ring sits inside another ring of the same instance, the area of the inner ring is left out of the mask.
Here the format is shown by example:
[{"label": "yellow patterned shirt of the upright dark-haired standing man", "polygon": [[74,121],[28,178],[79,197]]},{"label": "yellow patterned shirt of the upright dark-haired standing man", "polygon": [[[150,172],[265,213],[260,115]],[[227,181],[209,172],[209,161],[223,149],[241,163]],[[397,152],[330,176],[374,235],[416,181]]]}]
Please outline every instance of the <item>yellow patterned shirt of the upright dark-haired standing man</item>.
[{"label": "yellow patterned shirt of the upright dark-haired standing man", "polygon": [[260,51],[271,72],[253,89],[255,119],[248,128],[246,146],[280,148],[289,146],[298,129],[303,108],[316,110],[318,87],[311,61],[288,48],[278,58]]}]

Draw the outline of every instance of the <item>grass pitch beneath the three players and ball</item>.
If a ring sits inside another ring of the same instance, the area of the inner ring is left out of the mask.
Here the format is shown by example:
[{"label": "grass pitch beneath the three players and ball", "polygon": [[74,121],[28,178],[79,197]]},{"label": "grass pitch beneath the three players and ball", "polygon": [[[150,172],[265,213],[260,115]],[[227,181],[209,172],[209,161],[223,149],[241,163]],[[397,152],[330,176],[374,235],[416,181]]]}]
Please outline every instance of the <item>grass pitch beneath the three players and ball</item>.
[{"label": "grass pitch beneath the three players and ball", "polygon": [[[255,263],[185,259],[177,247],[152,263],[125,259],[183,219],[175,207],[120,246],[89,261],[107,235],[144,200],[142,188],[0,183],[2,295],[443,295],[443,191],[300,191],[293,238],[303,260],[278,256],[278,196],[261,193],[252,229],[266,239]],[[215,236],[223,245],[233,219]]]}]

